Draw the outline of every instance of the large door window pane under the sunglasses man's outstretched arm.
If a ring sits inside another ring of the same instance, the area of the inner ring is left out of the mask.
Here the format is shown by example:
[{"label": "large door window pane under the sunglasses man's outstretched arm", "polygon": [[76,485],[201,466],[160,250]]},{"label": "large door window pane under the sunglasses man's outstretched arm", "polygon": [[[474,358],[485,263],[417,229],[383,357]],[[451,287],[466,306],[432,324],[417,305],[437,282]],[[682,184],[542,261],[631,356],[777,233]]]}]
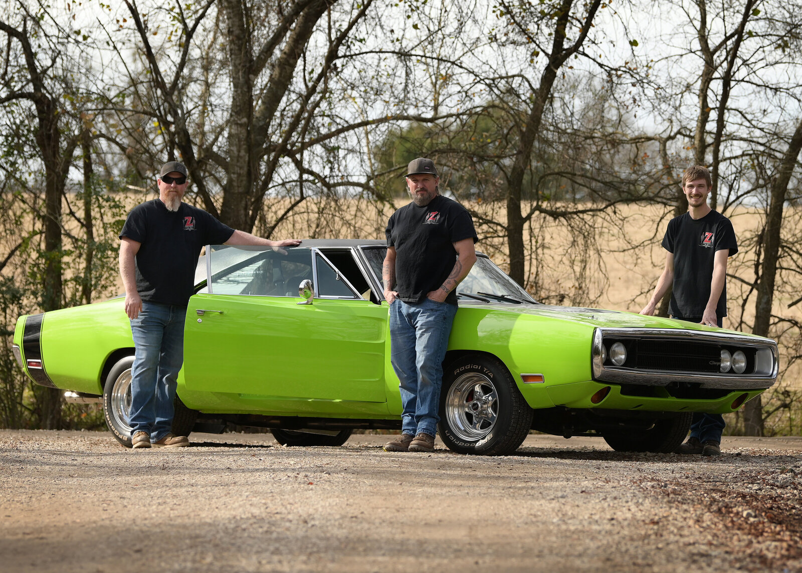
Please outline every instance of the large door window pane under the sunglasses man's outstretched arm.
[{"label": "large door window pane under the sunglasses man's outstretched arm", "polygon": [[[312,279],[312,253],[302,247],[282,250],[254,250],[253,248],[231,247],[213,251],[211,263],[216,266],[215,257],[225,256],[226,265],[213,272],[211,292],[214,295],[252,295],[298,297],[298,285]],[[282,252],[283,251],[283,252]],[[201,292],[209,292],[201,289]]]}]

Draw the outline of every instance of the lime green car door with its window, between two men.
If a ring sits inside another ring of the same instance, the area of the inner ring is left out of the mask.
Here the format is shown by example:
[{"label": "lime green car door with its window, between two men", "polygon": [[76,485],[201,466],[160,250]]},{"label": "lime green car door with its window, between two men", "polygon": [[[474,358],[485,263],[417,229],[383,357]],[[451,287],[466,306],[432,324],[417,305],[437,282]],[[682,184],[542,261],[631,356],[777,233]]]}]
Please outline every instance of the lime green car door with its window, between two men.
[{"label": "lime green car door with its window, between two men", "polygon": [[[387,308],[363,299],[318,250],[231,248],[207,250],[207,287],[189,300],[188,390],[387,401]],[[298,304],[306,279],[315,296]]]}]

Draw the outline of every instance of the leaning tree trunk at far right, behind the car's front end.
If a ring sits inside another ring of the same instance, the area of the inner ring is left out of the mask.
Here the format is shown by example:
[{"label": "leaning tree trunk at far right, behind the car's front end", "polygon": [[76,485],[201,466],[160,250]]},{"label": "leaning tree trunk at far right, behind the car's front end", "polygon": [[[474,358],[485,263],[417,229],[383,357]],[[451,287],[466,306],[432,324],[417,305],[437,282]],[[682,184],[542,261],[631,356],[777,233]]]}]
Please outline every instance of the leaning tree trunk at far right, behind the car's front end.
[{"label": "leaning tree trunk at far right, behind the car's front end", "polygon": [[[780,169],[772,181],[772,199],[768,206],[766,226],[763,231],[763,262],[760,265],[760,276],[757,281],[757,299],[755,300],[755,327],[752,332],[760,336],[768,336],[772,320],[772,303],[774,303],[774,284],[777,274],[777,259],[780,257],[780,230],[783,224],[783,207],[788,182],[796,166],[796,157],[802,149],[802,120],[796,126]],[[743,412],[744,433],[747,436],[763,436],[763,403],[760,396],[749,400]]]}]

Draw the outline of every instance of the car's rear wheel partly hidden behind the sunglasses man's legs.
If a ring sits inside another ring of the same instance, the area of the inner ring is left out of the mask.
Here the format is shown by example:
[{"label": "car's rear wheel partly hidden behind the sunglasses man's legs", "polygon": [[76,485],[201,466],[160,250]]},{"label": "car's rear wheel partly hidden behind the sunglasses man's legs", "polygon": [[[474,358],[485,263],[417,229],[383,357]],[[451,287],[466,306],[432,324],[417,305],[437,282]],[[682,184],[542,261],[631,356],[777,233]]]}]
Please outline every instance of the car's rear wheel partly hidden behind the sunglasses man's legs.
[{"label": "car's rear wheel partly hidden behind the sunglasses man's legs", "polygon": [[[131,425],[128,412],[131,410],[131,367],[133,356],[121,358],[106,377],[103,386],[103,415],[106,425],[120,444],[131,447]],[[173,403],[175,415],[172,418],[172,433],[176,436],[188,436],[192,432],[197,417],[196,410],[187,408],[176,396]]]}]

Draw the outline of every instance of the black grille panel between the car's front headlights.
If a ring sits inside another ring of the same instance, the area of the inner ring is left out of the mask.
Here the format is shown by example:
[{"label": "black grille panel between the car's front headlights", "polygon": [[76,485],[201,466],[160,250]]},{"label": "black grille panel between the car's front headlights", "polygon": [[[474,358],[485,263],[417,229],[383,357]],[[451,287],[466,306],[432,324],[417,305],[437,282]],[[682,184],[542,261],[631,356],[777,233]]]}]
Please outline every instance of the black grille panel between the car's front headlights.
[{"label": "black grille panel between the car's front headlights", "polygon": [[[690,340],[633,340],[634,368],[642,370],[719,372],[718,346]],[[630,360],[627,360],[629,366]]]}]

